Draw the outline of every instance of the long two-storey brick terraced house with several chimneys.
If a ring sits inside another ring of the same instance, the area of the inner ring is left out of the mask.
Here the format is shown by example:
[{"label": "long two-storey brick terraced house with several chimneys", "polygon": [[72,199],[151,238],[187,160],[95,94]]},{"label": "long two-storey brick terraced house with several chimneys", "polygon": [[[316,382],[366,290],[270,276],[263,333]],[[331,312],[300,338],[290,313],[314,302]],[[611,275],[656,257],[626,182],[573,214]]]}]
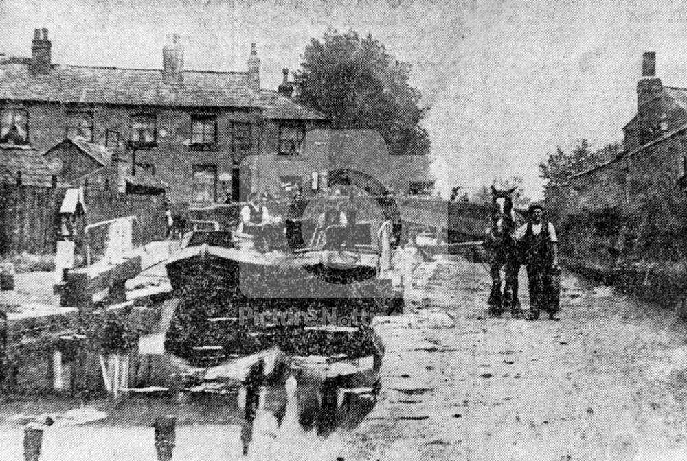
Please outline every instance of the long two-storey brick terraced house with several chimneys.
[{"label": "long two-storey brick terraced house with several chimneys", "polygon": [[[260,88],[255,45],[245,72],[184,69],[178,36],[164,47],[161,70],[54,64],[47,29],[34,31],[31,50],[30,58],[0,54],[0,150],[47,154],[71,184],[114,158],[120,180],[152,177],[168,201],[199,204],[307,184],[326,169],[326,158],[304,154],[302,144],[328,121],[293,102],[286,69],[278,91]],[[269,172],[254,167],[239,180],[249,156],[269,157],[260,162]],[[98,187],[115,185],[101,178]]]}]

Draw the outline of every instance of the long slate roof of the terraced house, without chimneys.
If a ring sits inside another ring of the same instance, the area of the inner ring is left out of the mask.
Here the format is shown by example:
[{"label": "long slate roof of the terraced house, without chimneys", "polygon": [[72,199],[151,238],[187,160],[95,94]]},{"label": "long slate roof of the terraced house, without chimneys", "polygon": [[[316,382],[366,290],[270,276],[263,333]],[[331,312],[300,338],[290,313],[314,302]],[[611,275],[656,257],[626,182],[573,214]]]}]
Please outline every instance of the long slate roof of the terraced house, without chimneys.
[{"label": "long slate roof of the terraced house, without chimneys", "polygon": [[170,107],[261,108],[267,118],[324,119],[274,91],[251,91],[245,72],[184,71],[165,84],[158,69],[53,65],[34,75],[27,64],[0,64],[0,99]]}]

